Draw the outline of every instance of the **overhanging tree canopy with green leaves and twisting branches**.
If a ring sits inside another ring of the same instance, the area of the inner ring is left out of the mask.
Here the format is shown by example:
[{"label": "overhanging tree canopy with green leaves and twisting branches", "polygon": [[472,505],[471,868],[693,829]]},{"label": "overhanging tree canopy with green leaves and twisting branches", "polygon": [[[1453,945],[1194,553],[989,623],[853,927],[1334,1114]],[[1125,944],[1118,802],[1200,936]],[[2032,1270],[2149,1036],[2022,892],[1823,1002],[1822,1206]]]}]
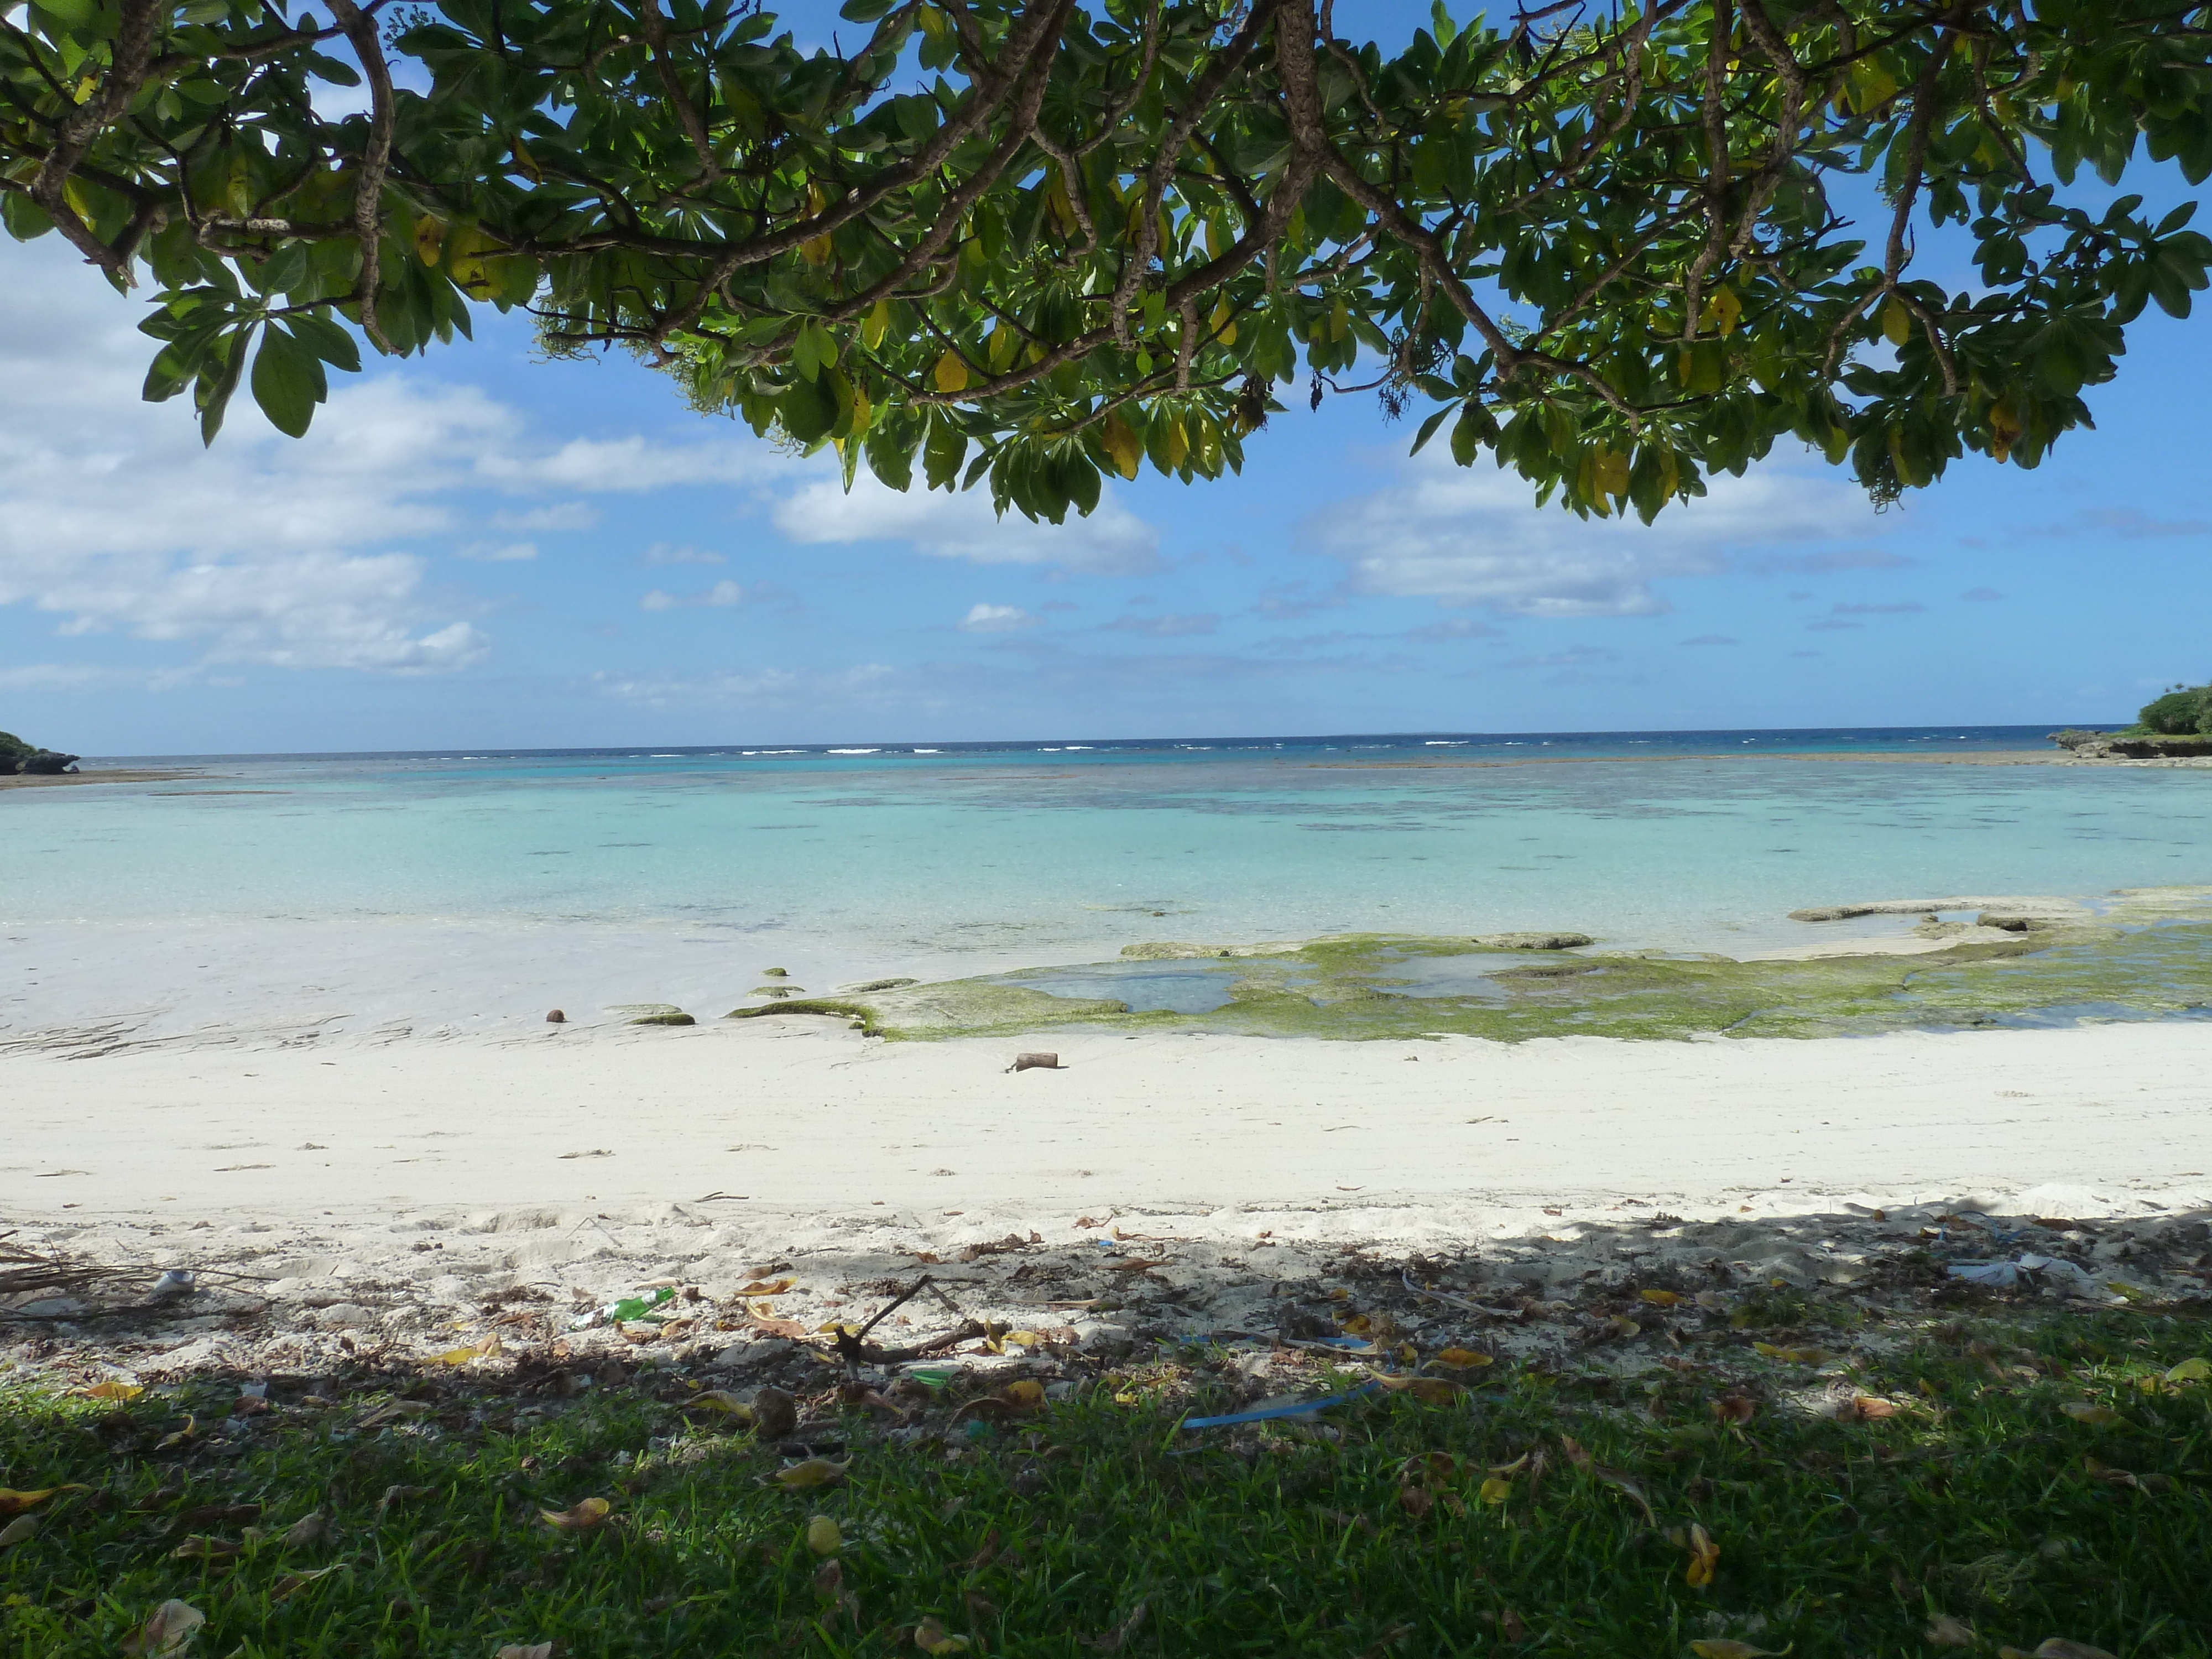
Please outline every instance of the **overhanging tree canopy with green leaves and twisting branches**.
[{"label": "overhanging tree canopy with green leaves and twisting branches", "polygon": [[1336,0],[849,0],[812,51],[757,0],[0,7],[0,221],[150,279],[210,440],[489,303],[1055,522],[1241,467],[1281,387],[1648,520],[1785,438],[1876,498],[2033,467],[2212,263],[2110,190],[2212,173],[2172,0],[1438,2],[1396,55]]}]

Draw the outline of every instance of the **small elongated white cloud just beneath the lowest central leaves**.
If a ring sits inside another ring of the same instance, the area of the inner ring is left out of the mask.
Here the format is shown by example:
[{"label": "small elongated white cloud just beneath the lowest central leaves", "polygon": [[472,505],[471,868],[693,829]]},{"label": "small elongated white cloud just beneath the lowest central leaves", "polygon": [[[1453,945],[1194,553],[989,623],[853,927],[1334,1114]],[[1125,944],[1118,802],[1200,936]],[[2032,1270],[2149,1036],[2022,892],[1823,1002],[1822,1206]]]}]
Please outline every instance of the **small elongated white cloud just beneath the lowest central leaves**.
[{"label": "small elongated white cloud just beneath the lowest central leaves", "polygon": [[776,529],[794,542],[909,542],[940,560],[973,564],[1062,564],[1088,575],[1135,575],[1159,566],[1159,531],[1099,498],[1091,518],[1031,524],[1020,513],[998,518],[978,491],[947,495],[911,489],[905,495],[869,476],[852,493],[836,478],[816,478],[772,509]]}]

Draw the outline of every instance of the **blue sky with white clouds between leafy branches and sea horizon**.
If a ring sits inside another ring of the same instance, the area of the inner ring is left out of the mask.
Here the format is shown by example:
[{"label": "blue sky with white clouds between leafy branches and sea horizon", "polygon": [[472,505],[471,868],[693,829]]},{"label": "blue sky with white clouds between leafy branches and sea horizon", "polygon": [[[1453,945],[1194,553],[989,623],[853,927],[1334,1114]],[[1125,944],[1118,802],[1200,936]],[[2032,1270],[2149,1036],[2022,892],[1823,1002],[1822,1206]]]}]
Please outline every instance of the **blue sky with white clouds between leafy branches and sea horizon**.
[{"label": "blue sky with white clouds between leafy branches and sea horizon", "polygon": [[60,239],[0,292],[0,728],[86,754],[2115,721],[2212,672],[2212,330],[2157,312],[2097,431],[1880,515],[1778,456],[1584,524],[1292,396],[1241,478],[1055,531],[489,312],[204,453]]}]

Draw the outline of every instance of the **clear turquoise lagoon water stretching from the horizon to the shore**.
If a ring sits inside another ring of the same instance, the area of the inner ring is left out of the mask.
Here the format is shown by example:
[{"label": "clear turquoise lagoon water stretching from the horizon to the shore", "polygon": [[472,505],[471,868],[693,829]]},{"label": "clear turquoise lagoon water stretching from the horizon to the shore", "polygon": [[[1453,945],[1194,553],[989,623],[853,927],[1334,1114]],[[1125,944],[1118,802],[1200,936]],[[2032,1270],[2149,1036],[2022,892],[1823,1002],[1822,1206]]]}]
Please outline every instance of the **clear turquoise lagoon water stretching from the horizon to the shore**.
[{"label": "clear turquoise lagoon water stretching from the horizon to the shore", "polygon": [[[2044,728],[184,757],[0,796],[0,922],[86,964],[135,940],[146,973],[250,980],[241,953],[314,936],[358,980],[383,947],[504,940],[484,971],[518,998],[595,956],[622,969],[593,995],[630,1000],[737,1000],[776,964],[1203,1013],[1219,975],[1121,949],[1575,929],[1743,956],[1809,938],[1807,905],[2212,880],[2212,772],[1871,759],[2028,750]],[[88,1013],[27,971],[73,1006],[0,995],[0,1022]]]}]

